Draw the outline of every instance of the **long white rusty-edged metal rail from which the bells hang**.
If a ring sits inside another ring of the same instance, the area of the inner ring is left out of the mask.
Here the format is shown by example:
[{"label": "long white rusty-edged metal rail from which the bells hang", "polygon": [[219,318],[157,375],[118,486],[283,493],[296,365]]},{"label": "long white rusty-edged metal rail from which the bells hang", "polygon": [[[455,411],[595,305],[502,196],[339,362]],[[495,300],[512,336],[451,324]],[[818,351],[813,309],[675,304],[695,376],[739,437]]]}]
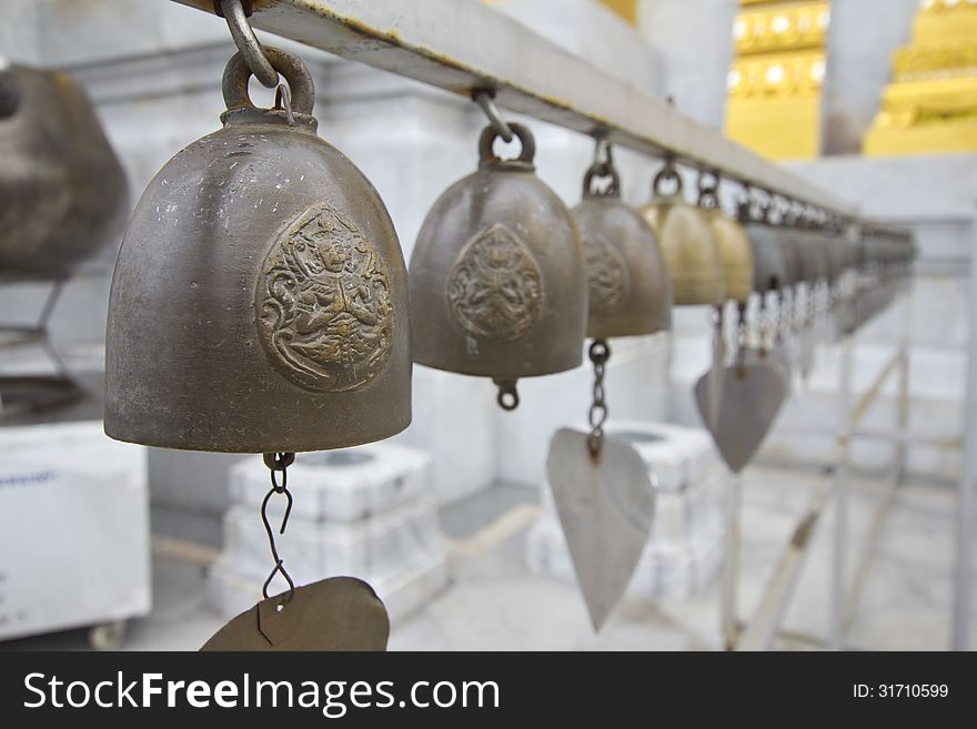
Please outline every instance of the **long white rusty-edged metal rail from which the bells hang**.
[{"label": "long white rusty-edged metal rail from which the bells hang", "polygon": [[[213,0],[173,0],[213,12]],[[253,0],[254,28],[826,211],[857,207],[476,0]]]}]

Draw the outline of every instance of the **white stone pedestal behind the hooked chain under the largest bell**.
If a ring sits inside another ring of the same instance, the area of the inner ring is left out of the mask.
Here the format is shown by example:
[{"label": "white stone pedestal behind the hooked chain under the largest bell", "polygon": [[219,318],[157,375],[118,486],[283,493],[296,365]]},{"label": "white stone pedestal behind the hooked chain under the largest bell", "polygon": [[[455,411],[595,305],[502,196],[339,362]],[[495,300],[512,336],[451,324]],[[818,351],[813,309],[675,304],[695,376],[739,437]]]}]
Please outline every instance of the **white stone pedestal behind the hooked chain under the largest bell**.
[{"label": "white stone pedestal behind the hooked chain under the largest bell", "polygon": [[[296,585],[350,575],[373,587],[391,620],[420,608],[447,581],[445,548],[427,493],[429,456],[391,443],[299,454],[289,467],[294,503],[284,535],[275,535]],[[230,618],[261,599],[273,565],[260,508],[271,483],[261,457],[231,468],[232,505],[224,548],[210,579],[211,601]],[[280,524],[284,498],[272,498]],[[275,578],[271,591],[284,580]]]}]

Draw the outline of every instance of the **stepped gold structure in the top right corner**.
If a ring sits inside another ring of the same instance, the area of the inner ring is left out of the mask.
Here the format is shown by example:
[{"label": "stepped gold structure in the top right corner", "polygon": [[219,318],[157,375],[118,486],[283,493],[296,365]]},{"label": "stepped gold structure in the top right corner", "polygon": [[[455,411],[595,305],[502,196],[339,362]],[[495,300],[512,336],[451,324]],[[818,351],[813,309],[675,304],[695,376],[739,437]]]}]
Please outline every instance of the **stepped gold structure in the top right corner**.
[{"label": "stepped gold structure in the top right corner", "polygon": [[869,156],[977,151],[977,0],[924,0],[863,140]]}]

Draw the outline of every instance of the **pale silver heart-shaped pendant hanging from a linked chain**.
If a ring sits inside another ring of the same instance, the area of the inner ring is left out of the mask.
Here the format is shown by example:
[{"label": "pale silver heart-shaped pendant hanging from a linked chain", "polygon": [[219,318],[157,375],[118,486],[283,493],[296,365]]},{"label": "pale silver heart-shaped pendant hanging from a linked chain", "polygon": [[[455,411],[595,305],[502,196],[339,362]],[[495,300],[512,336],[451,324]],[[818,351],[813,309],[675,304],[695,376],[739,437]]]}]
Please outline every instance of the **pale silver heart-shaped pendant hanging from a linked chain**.
[{"label": "pale silver heart-shaped pendant hanging from a linked chain", "polygon": [[648,540],[655,490],[647,465],[629,443],[605,435],[601,457],[593,459],[588,437],[557,431],[546,473],[591,621],[600,630]]}]

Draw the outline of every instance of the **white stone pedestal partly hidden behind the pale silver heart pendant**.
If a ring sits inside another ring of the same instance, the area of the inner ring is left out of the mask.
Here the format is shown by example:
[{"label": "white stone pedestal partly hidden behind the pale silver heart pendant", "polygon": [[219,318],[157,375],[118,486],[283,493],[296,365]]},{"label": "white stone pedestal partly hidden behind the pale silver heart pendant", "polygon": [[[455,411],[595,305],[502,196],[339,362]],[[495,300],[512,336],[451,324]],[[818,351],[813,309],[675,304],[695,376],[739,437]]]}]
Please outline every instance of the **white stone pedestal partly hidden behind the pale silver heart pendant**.
[{"label": "white stone pedestal partly hidden behind the pale silver heart pendant", "polygon": [[[618,422],[608,434],[631,441],[655,484],[655,519],[628,594],[687,596],[707,585],[723,557],[726,470],[705,431],[661,423]],[[574,581],[573,563],[543,485],[543,516],[530,529],[526,560],[535,574]]]}]

